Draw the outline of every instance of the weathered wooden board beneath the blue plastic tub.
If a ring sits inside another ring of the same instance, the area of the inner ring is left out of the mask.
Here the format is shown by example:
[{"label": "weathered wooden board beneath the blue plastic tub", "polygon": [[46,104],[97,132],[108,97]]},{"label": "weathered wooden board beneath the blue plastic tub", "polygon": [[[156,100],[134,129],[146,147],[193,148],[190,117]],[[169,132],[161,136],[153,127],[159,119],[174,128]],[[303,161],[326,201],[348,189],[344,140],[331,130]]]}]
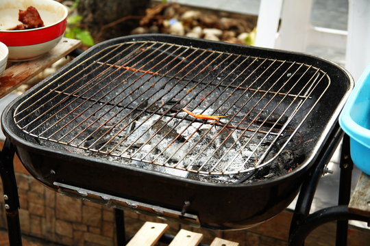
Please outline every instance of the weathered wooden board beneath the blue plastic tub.
[{"label": "weathered wooden board beneath the blue plastic tub", "polygon": [[349,211],[358,215],[370,217],[370,176],[362,173],[351,200],[348,205]]}]

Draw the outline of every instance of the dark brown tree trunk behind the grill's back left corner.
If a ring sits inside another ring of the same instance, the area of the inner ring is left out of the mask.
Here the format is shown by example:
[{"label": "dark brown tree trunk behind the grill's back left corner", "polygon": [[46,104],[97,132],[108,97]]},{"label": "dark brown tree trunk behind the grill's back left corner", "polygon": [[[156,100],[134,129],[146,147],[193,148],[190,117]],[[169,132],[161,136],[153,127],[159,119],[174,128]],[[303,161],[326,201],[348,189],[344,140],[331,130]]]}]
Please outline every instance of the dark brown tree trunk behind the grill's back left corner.
[{"label": "dark brown tree trunk behind the grill's back left corner", "polygon": [[80,0],[77,12],[95,42],[101,42],[130,34],[150,3],[151,0]]}]

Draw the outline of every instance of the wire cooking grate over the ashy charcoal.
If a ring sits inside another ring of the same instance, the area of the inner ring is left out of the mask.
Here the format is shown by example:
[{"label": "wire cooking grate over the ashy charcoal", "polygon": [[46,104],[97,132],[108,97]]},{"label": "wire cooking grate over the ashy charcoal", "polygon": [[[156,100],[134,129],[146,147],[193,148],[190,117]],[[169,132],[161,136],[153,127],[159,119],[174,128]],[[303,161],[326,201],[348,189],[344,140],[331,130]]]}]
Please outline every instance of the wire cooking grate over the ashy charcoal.
[{"label": "wire cooking grate over the ashy charcoal", "polygon": [[18,105],[14,122],[40,144],[108,161],[238,174],[310,141],[299,127],[329,85],[295,61],[126,42],[58,75]]}]

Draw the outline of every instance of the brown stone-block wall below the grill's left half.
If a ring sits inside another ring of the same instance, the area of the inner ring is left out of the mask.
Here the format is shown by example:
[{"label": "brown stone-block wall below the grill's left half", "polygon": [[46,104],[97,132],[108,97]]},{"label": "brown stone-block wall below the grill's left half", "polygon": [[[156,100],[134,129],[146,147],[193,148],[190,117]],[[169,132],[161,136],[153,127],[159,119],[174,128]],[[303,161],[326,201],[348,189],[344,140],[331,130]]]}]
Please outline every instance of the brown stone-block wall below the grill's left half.
[{"label": "brown stone-block wall below the grill's left half", "polygon": [[63,245],[114,245],[112,208],[60,195],[27,174],[16,173],[16,180],[23,234]]}]

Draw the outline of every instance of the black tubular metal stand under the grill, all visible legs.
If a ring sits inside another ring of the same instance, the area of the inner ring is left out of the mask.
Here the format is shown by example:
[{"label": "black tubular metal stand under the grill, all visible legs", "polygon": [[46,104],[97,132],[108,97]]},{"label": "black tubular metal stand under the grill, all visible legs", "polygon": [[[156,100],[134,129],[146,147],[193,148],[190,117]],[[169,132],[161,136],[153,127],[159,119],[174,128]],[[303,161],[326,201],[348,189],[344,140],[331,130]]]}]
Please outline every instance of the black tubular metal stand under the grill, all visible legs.
[{"label": "black tubular metal stand under the grill, all visible legs", "polygon": [[[336,147],[338,146],[338,143],[341,141],[342,137],[343,131],[338,124],[336,124],[332,135],[330,135],[323,148],[323,151],[317,158],[317,164],[313,165],[313,168],[311,168],[308,172],[308,176],[301,186],[297,205],[293,213],[288,245],[304,245],[304,239],[306,236],[308,236],[308,234],[310,234],[310,232],[312,232],[312,230],[329,221],[338,221],[336,229],[336,245],[347,245],[348,219],[367,221],[370,223],[369,217],[356,215],[348,211],[347,205],[349,203],[351,174],[354,164],[349,156],[349,137],[347,135],[344,135],[343,137],[343,147],[341,152],[341,179],[338,206],[323,208],[316,213],[312,213],[311,215],[309,214],[314,193],[317,189],[317,184],[319,183],[322,174],[325,172],[325,166],[336,150]],[[5,200],[5,211],[8,221],[8,237],[11,246],[22,245],[21,226],[18,216],[19,200],[16,179],[14,175],[13,158],[14,146],[12,146],[12,143],[6,139],[0,156],[0,176],[1,180],[3,181],[3,197]],[[126,238],[123,210],[115,208],[114,215],[116,219],[117,245],[124,245]],[[172,238],[173,236],[164,234],[160,241],[163,243],[169,243],[171,242]]]}]

